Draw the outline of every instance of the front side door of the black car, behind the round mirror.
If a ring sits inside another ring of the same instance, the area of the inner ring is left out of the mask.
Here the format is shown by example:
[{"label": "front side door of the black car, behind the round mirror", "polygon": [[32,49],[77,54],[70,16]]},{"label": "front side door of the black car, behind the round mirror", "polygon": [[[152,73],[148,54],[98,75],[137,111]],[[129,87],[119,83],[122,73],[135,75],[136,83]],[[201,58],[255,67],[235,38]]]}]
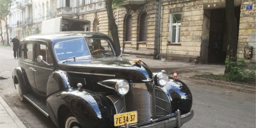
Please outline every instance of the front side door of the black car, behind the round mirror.
[{"label": "front side door of the black car, behind the round mirror", "polygon": [[[36,41],[34,43],[34,54],[34,68],[37,70],[34,72],[35,84],[37,86],[38,94],[46,97],[48,78],[54,70],[53,59],[48,46],[44,42]],[[43,56],[44,62],[38,62],[38,56]]]}]

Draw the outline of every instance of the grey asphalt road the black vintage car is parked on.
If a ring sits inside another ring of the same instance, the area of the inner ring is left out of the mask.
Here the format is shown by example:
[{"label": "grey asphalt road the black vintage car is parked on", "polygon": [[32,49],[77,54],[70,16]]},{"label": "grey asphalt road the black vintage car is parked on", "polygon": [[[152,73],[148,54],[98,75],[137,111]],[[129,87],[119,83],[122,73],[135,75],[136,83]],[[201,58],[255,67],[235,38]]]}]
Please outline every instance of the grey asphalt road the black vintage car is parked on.
[{"label": "grey asphalt road the black vintage car is parked on", "polygon": [[[30,103],[22,103],[12,82],[18,67],[11,47],[0,46],[0,95],[28,128],[55,128],[50,119]],[[255,128],[255,94],[200,85],[184,80],[193,95],[194,117],[182,128]]]}]

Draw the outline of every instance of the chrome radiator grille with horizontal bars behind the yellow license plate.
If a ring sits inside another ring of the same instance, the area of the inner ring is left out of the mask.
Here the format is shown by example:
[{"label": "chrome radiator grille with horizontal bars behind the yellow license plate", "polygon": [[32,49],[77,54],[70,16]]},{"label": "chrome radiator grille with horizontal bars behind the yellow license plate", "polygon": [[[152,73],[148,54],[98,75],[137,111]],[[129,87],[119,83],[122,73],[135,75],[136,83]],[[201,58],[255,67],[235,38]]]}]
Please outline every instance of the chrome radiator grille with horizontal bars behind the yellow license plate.
[{"label": "chrome radiator grille with horizontal bars behind the yellow license plate", "polygon": [[149,91],[140,88],[131,88],[125,95],[126,111],[137,111],[138,121],[150,120],[151,96]]}]

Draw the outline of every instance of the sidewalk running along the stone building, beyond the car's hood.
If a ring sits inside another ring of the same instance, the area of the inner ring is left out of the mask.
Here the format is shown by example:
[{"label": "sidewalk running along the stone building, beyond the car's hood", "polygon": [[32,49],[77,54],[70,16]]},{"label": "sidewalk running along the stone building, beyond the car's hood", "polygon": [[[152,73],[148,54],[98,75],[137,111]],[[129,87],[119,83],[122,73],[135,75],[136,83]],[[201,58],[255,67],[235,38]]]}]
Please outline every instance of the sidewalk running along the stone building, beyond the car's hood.
[{"label": "sidewalk running along the stone building, beyond the car's hood", "polygon": [[147,58],[136,58],[131,56],[123,56],[123,58],[132,60],[132,59],[141,59],[145,62],[148,67],[152,71],[161,71],[165,70],[167,73],[173,74],[176,70],[179,77],[189,77],[196,74],[202,73],[212,73],[215,75],[224,74],[225,65],[221,64],[198,64],[194,65],[194,63],[186,63],[180,61],[172,61],[172,62],[162,62],[161,60],[157,59],[147,59]]}]

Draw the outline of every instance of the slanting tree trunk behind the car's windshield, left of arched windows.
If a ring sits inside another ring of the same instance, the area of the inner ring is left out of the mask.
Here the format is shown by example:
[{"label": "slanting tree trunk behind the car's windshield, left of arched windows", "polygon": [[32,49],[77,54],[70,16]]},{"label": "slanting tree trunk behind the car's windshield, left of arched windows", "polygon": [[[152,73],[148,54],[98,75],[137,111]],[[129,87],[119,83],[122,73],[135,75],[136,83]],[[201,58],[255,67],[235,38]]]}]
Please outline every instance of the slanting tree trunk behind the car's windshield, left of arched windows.
[{"label": "slanting tree trunk behind the car's windshield, left of arched windows", "polygon": [[108,20],[109,20],[109,30],[112,35],[112,39],[115,45],[115,49],[117,52],[117,55],[120,55],[120,42],[119,42],[119,37],[118,37],[118,28],[115,23],[114,15],[113,15],[113,9],[112,9],[112,0],[106,0],[106,11],[108,14]]}]

